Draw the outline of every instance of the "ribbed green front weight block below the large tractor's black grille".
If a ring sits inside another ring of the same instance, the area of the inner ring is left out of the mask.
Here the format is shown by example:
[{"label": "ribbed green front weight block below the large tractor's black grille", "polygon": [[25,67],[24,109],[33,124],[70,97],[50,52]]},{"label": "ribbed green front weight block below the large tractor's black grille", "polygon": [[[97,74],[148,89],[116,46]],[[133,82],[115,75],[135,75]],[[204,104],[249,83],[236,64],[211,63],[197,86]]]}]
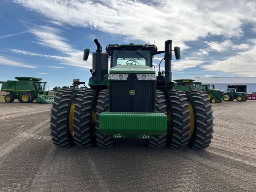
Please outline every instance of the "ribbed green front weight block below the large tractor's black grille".
[{"label": "ribbed green front weight block below the large tractor's black grille", "polygon": [[100,132],[114,137],[151,138],[167,131],[167,116],[164,113],[102,112]]}]

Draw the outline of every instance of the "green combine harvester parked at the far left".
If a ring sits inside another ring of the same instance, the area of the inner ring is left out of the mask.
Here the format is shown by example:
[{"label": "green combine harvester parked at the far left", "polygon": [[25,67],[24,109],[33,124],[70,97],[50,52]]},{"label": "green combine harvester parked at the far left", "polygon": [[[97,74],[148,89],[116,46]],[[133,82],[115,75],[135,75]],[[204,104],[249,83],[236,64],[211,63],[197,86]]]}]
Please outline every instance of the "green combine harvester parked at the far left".
[{"label": "green combine harvester parked at the far left", "polygon": [[47,82],[40,81],[41,78],[36,77],[15,77],[16,80],[0,81],[2,84],[1,91],[9,92],[4,95],[7,103],[12,103],[18,99],[21,103],[37,103],[52,104],[54,96],[48,96],[45,91]]}]

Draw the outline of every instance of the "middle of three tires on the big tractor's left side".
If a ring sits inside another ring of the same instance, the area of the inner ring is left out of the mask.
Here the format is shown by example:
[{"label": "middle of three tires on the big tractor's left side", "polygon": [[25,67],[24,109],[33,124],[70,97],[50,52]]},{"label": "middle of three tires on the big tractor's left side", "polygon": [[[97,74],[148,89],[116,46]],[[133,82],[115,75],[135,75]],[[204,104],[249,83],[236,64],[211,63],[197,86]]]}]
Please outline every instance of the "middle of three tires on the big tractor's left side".
[{"label": "middle of three tires on the big tractor's left side", "polygon": [[90,148],[93,145],[95,127],[96,91],[87,89],[76,95],[74,109],[74,142],[77,147]]}]

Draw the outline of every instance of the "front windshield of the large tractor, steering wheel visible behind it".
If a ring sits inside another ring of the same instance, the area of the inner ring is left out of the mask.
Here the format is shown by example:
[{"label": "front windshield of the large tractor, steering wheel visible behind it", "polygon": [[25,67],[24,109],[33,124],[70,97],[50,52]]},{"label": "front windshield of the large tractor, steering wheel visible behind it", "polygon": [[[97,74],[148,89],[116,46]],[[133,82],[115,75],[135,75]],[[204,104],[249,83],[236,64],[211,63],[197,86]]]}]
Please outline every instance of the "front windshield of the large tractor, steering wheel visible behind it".
[{"label": "front windshield of the large tractor, steering wheel visible behind it", "polygon": [[147,65],[151,67],[149,50],[113,50],[112,67],[116,65]]}]

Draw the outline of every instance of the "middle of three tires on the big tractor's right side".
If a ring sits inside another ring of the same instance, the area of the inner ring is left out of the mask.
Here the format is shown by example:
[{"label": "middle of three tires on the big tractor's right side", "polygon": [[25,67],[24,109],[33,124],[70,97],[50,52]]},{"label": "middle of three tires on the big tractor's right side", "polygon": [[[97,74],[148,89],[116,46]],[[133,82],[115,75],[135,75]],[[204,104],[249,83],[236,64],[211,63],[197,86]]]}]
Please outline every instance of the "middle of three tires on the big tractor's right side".
[{"label": "middle of three tires on the big tractor's right side", "polygon": [[168,103],[167,146],[174,149],[186,148],[190,138],[190,116],[184,92],[171,90],[165,94]]}]

